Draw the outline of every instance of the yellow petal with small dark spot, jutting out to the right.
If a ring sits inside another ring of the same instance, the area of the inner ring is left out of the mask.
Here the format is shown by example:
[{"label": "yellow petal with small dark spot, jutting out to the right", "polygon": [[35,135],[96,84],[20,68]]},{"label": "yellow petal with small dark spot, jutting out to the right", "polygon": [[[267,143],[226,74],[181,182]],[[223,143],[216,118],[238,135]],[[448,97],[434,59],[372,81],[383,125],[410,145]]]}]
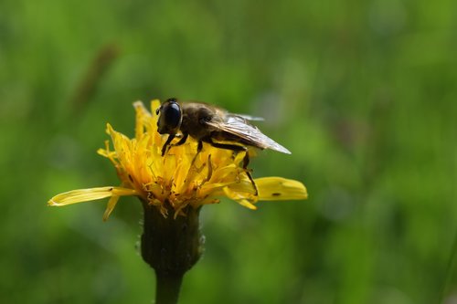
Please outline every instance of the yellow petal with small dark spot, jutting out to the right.
[{"label": "yellow petal with small dark spot, jutting out to the right", "polygon": [[303,183],[282,177],[262,177],[254,180],[260,201],[304,200],[308,198]]}]

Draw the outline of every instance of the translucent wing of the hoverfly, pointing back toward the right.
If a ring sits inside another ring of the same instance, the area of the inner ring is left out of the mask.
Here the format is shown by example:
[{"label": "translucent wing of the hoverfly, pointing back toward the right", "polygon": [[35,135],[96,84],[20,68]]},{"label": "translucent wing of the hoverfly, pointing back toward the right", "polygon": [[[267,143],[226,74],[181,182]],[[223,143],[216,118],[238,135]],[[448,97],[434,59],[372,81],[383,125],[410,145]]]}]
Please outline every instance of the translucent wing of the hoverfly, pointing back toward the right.
[{"label": "translucent wing of the hoverfly, pointing back toward the right", "polygon": [[253,146],[261,149],[271,149],[277,152],[291,154],[289,150],[282,147],[278,142],[274,142],[270,137],[263,134],[257,127],[250,125],[242,116],[227,114],[224,121],[207,121],[207,125],[220,131],[226,131],[246,142],[251,142]]}]

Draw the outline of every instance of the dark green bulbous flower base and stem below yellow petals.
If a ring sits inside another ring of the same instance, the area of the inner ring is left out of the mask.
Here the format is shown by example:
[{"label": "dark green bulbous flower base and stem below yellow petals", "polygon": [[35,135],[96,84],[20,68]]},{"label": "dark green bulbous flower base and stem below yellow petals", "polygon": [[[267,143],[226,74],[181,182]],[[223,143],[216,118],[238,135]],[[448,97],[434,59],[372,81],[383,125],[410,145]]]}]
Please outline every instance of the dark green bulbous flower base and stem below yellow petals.
[{"label": "dark green bulbous flower base and stem below yellow petals", "polygon": [[186,215],[175,214],[168,202],[168,216],[159,208],[143,202],[144,222],[141,238],[143,260],[155,270],[156,304],[176,303],[186,271],[193,267],[203,251],[199,230],[199,208],[187,206]]}]

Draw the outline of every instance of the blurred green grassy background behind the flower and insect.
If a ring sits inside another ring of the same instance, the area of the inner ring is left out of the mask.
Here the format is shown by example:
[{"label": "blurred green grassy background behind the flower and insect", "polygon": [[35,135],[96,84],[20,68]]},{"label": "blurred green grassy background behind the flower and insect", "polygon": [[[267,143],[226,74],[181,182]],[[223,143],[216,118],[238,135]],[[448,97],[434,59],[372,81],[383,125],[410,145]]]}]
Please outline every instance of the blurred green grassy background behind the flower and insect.
[{"label": "blurred green grassy background behind the flower and insect", "polygon": [[292,155],[254,177],[310,193],[205,207],[182,303],[454,303],[456,33],[452,0],[2,0],[0,302],[151,303],[138,201],[46,203],[118,184],[105,123],[175,96],[265,117]]}]

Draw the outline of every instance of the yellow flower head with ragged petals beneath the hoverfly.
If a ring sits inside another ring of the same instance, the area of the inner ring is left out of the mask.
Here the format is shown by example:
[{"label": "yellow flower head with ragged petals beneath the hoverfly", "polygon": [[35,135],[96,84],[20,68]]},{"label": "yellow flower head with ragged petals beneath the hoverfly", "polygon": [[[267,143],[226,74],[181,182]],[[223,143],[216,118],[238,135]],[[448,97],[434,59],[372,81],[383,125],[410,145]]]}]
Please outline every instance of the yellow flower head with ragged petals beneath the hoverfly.
[{"label": "yellow flower head with ragged petals beneath the hoverfly", "polygon": [[166,136],[157,132],[159,100],[151,102],[153,114],[141,101],[133,103],[136,110],[135,137],[128,138],[114,131],[107,124],[106,131],[112,138],[99,154],[108,158],[118,173],[121,186],[79,189],[58,194],[48,205],[62,206],[110,197],[103,219],[112,213],[119,198],[125,195],[140,197],[143,202],[155,205],[166,216],[171,206],[175,216],[184,215],[183,209],[203,204],[218,203],[218,197],[228,198],[250,209],[256,209],[258,201],[306,199],[303,183],[282,177],[255,179],[258,194],[242,167],[245,152],[234,153],[205,144],[197,153],[197,141],[188,138],[180,146],[172,146],[161,156]]}]

